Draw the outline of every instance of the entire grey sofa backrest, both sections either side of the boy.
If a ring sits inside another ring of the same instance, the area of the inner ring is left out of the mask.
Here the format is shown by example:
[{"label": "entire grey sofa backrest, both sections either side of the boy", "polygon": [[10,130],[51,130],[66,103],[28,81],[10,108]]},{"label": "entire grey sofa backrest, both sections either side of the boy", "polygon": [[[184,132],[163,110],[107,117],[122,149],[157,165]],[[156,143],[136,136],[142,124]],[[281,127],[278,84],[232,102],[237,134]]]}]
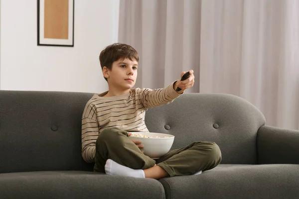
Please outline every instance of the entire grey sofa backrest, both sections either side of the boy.
[{"label": "entire grey sofa backrest, both sections either side of the boy", "polygon": [[[93,171],[81,156],[81,117],[90,93],[0,91],[0,173]],[[172,149],[214,141],[223,164],[255,164],[263,114],[248,101],[224,94],[184,94],[150,108],[151,132],[175,135]]]}]

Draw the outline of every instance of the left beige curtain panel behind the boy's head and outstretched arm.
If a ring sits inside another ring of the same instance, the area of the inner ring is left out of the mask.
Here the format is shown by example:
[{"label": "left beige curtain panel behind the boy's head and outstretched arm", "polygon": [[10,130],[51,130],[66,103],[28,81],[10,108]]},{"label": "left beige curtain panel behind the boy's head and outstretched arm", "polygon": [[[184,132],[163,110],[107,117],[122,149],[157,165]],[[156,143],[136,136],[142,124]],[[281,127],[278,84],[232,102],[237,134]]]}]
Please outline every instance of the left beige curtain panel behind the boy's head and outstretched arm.
[{"label": "left beige curtain panel behind the boy's head and outstretched arm", "polygon": [[200,0],[121,0],[119,42],[140,54],[137,87],[162,88],[194,70],[199,92]]}]

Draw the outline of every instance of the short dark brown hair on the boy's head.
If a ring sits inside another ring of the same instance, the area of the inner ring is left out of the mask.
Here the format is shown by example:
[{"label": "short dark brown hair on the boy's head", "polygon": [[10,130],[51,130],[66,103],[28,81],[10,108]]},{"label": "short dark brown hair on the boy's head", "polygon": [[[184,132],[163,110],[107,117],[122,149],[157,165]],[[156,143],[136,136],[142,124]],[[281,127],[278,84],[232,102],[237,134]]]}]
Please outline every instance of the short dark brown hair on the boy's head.
[{"label": "short dark brown hair on the boy's head", "polygon": [[[114,43],[107,46],[104,50],[102,50],[99,56],[102,71],[104,66],[106,66],[109,70],[112,70],[113,62],[118,61],[119,59],[124,60],[126,58],[131,61],[135,59],[139,62],[138,52],[132,46],[122,43]],[[105,80],[107,81],[107,78],[105,78]]]}]

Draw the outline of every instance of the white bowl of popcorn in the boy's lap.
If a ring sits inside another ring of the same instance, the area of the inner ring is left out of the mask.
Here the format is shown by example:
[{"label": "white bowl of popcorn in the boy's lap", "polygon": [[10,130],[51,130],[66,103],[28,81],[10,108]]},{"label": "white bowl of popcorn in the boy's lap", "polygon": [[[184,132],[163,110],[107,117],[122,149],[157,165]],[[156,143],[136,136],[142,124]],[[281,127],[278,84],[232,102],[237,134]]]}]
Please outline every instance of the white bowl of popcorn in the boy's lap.
[{"label": "white bowl of popcorn in the boy's lap", "polygon": [[130,132],[130,140],[139,140],[144,148],[141,151],[152,159],[165,155],[171,148],[174,135],[153,132]]}]

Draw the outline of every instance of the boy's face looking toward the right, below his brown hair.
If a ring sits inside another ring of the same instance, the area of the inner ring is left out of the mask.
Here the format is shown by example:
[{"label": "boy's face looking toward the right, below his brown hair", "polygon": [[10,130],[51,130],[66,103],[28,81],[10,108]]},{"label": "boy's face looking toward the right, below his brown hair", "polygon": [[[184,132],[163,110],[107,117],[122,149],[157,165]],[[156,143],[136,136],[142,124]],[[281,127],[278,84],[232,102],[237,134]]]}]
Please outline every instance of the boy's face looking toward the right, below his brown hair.
[{"label": "boy's face looking toward the right, below his brown hair", "polygon": [[[107,70],[108,84],[117,89],[126,90],[134,87],[137,79],[138,62],[128,58],[113,62],[112,69]],[[105,76],[105,74],[104,74]]]}]

